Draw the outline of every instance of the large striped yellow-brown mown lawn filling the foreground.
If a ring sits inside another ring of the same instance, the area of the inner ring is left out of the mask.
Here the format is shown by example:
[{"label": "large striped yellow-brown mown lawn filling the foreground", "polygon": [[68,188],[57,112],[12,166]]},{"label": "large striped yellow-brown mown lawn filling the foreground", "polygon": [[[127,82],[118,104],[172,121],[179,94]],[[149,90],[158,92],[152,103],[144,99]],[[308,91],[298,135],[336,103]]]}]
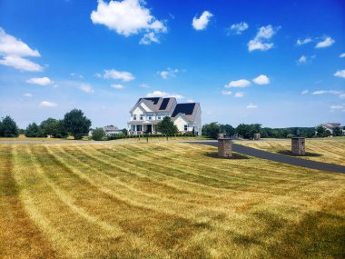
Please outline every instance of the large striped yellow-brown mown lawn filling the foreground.
[{"label": "large striped yellow-brown mown lawn filling the foreground", "polygon": [[0,258],[344,258],[345,175],[179,143],[0,144]]}]

